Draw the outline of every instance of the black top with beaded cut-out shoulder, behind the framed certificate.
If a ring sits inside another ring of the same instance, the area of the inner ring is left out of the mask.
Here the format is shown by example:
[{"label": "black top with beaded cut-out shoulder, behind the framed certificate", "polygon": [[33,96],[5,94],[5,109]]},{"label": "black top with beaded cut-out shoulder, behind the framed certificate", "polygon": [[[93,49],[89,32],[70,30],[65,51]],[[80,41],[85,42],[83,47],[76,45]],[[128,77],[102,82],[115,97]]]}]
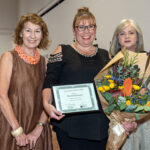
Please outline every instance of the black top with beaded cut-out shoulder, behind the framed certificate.
[{"label": "black top with beaded cut-out shoulder, behind the framed certificate", "polygon": [[[94,82],[94,77],[109,61],[108,52],[104,49],[98,49],[96,55],[92,57],[85,57],[70,45],[61,46],[62,53],[51,56],[51,62],[47,64],[44,88],[58,84]],[[60,121],[51,119],[51,123],[70,137],[102,140],[108,136],[109,120],[103,113],[99,100],[98,103],[97,112],[69,114]]]}]

